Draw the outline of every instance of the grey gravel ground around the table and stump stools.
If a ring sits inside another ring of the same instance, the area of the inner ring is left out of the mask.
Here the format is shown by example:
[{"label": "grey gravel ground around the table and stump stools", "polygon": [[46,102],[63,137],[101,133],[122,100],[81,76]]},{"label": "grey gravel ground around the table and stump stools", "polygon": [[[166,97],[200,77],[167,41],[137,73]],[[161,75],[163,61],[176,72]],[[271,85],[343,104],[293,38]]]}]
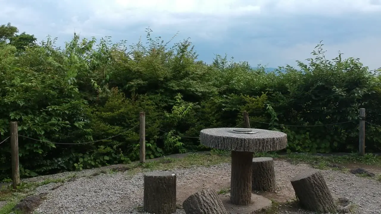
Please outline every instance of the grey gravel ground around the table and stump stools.
[{"label": "grey gravel ground around the table and stump stools", "polygon": [[[287,201],[295,198],[290,183],[291,177],[310,167],[307,164],[293,165],[286,161],[274,161],[277,177],[277,193],[275,199]],[[186,198],[197,189],[208,185],[216,187],[229,186],[230,164],[220,164],[212,167],[198,167],[191,169],[176,169],[178,197]],[[90,175],[95,170],[82,171],[82,175]],[[65,177],[71,173],[61,173],[50,178]],[[381,185],[379,182],[353,174],[344,174],[338,171],[322,170],[333,196],[346,197],[357,204],[354,213],[380,214],[381,213]],[[41,180],[37,178],[35,180]],[[47,199],[37,208],[40,214],[143,214],[139,211],[143,200],[143,175],[137,174],[128,177],[126,172],[114,174],[100,174],[89,178],[80,177],[73,182],[67,182],[56,190],[50,190],[57,184],[48,184],[37,188],[37,193],[48,192]],[[180,200],[181,201],[181,200]],[[176,214],[184,214],[178,209]],[[282,211],[288,214],[309,214],[305,211]]]}]

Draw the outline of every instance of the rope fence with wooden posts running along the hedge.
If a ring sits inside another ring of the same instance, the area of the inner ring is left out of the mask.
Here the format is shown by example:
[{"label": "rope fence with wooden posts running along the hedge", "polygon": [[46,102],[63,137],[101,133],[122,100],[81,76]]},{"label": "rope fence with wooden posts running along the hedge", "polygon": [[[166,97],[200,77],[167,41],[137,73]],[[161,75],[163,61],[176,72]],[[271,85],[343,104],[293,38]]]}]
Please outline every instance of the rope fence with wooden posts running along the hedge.
[{"label": "rope fence with wooden posts running along the hedge", "polygon": [[[359,123],[359,153],[360,155],[365,155],[365,123],[368,123],[371,126],[375,126],[377,128],[381,128],[380,125],[376,125],[374,123],[370,123],[368,121],[365,121],[365,109],[360,109],[360,123]],[[80,144],[90,144],[90,143],[95,143],[95,142],[100,142],[100,141],[106,141],[109,139],[112,139],[114,137],[120,136],[122,134],[127,133],[128,131],[131,131],[132,129],[140,126],[139,128],[139,138],[140,138],[140,163],[145,163],[145,125],[148,125],[162,133],[165,134],[171,134],[172,136],[176,137],[182,137],[182,138],[193,138],[193,139],[199,139],[200,136],[182,136],[182,135],[177,135],[173,133],[169,133],[166,131],[163,131],[162,129],[157,128],[154,125],[151,125],[150,123],[146,123],[145,121],[145,112],[140,112],[140,117],[139,117],[140,123],[138,125],[135,125],[134,127],[127,129],[126,131],[123,131],[120,134],[116,134],[111,137],[107,137],[105,139],[101,140],[96,140],[96,141],[89,141],[89,142],[78,142],[78,143],[57,143],[57,142],[50,142],[50,141],[43,141],[40,139],[35,139],[32,137],[24,136],[21,134],[18,134],[18,126],[17,122],[11,122],[11,136],[7,137],[3,141],[0,142],[0,145],[10,139],[11,141],[11,158],[12,158],[12,181],[13,181],[13,187],[17,188],[17,185],[20,184],[20,178],[19,178],[19,153],[18,153],[18,137],[24,137],[26,139],[38,141],[38,142],[44,142],[44,143],[51,143],[51,144],[63,144],[63,145],[80,145]],[[234,126],[233,128],[237,128],[238,126],[242,125],[243,123],[246,128],[250,128],[250,121],[255,122],[255,123],[263,123],[267,125],[274,125],[274,126],[290,126],[290,127],[317,127],[317,126],[334,126],[334,125],[341,125],[345,123],[353,123],[354,121],[345,121],[345,122],[339,122],[339,123],[330,123],[330,124],[315,124],[315,125],[285,125],[285,124],[275,124],[275,123],[266,123],[263,121],[257,121],[257,120],[251,120],[248,116],[248,113],[246,111],[243,112],[243,121],[239,123],[237,126]]]}]

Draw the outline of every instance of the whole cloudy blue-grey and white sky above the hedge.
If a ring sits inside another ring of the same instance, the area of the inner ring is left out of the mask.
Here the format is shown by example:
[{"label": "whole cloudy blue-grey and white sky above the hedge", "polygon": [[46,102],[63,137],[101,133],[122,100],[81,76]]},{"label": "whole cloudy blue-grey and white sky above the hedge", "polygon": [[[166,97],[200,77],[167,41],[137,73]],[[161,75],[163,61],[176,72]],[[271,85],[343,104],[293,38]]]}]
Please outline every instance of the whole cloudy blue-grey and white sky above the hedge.
[{"label": "whole cloudy blue-grey and white sky above the hedge", "polygon": [[0,0],[0,24],[59,38],[112,36],[136,43],[154,36],[191,38],[199,59],[227,53],[251,65],[295,65],[323,40],[338,51],[381,67],[381,0]]}]

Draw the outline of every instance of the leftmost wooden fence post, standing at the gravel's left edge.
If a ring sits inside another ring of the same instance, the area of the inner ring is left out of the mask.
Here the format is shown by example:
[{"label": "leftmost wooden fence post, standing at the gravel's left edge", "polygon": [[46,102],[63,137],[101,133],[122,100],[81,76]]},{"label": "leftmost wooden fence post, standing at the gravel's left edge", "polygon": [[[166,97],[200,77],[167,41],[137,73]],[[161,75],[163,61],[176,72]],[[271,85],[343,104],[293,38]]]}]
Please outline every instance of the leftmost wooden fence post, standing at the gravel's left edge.
[{"label": "leftmost wooden fence post, standing at the gravel's left edge", "polygon": [[19,169],[19,134],[17,122],[11,122],[11,162],[12,162],[12,185],[16,189],[20,184]]}]

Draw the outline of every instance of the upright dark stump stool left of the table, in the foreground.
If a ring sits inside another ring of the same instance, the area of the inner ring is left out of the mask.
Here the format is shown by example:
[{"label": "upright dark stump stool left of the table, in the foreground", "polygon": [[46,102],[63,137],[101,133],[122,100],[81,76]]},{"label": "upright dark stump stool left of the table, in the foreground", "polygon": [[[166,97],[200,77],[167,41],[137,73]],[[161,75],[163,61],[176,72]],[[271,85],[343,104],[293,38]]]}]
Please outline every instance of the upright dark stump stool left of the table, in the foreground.
[{"label": "upright dark stump stool left of the table, in the foreground", "polygon": [[176,174],[149,172],[144,175],[144,212],[176,212]]}]

